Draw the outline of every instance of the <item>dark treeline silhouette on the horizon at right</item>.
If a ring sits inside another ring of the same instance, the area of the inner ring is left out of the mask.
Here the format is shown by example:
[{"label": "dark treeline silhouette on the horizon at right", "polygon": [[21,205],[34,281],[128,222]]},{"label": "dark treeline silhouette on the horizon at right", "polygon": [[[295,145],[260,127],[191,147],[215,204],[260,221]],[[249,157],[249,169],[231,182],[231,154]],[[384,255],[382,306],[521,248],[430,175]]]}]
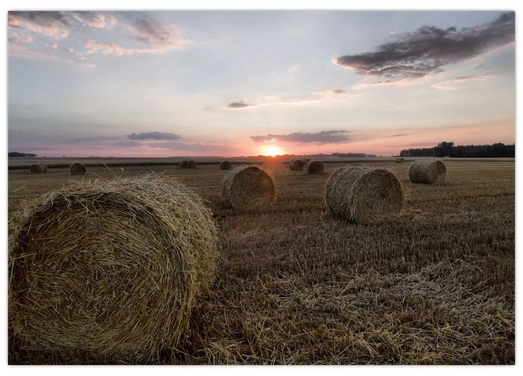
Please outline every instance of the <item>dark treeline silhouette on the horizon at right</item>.
[{"label": "dark treeline silhouette on the horizon at right", "polygon": [[455,158],[496,158],[516,157],[516,145],[496,143],[493,145],[458,145],[441,142],[431,148],[404,149],[400,157],[455,157]]}]

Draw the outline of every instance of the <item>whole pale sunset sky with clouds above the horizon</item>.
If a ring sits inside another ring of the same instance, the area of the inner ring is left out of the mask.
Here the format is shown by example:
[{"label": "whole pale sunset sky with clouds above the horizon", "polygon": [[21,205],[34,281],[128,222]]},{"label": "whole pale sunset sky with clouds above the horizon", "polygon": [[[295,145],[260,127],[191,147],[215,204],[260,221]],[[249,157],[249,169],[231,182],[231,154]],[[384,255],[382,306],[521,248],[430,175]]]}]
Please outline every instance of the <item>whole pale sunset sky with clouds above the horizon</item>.
[{"label": "whole pale sunset sky with clouds above the horizon", "polygon": [[510,9],[15,9],[8,151],[391,156],[515,143]]}]

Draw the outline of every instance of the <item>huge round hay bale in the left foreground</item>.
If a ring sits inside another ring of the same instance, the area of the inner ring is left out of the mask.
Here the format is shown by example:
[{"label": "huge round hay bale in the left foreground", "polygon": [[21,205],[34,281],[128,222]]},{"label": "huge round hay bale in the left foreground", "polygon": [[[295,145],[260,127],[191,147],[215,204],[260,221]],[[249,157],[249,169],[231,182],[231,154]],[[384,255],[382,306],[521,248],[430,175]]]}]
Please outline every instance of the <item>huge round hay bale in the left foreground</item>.
[{"label": "huge round hay bale in the left foreground", "polygon": [[49,192],[9,221],[9,325],[27,349],[155,359],[215,274],[217,231],[196,193],[152,174]]}]

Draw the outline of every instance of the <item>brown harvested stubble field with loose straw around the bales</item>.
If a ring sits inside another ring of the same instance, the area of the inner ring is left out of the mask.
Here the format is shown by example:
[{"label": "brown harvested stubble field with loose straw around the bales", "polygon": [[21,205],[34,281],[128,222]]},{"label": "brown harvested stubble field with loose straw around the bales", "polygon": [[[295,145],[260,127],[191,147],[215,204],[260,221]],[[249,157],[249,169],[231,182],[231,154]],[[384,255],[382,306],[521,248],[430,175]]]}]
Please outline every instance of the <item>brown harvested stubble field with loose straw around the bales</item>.
[{"label": "brown harvested stubble field with loose straw around the bales", "polygon": [[[354,162],[400,179],[398,218],[338,221],[320,175],[262,164],[274,206],[222,207],[217,164],[8,172],[8,211],[82,180],[151,172],[176,177],[208,201],[220,230],[218,274],[164,364],[461,365],[515,363],[515,162],[445,161],[439,185],[413,184],[410,161]],[[9,344],[20,363],[89,363]],[[108,361],[109,362],[109,361]]]}]

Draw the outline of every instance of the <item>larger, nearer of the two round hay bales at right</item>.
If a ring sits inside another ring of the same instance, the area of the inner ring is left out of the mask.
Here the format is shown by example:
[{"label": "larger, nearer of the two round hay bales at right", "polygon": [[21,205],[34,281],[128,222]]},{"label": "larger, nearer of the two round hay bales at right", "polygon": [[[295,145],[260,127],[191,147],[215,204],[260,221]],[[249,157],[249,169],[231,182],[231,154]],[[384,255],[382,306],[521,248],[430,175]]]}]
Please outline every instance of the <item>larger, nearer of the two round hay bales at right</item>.
[{"label": "larger, nearer of the two round hay bales at right", "polygon": [[331,213],[357,223],[379,223],[400,213],[401,182],[389,170],[345,166],[336,169],[325,185]]}]

